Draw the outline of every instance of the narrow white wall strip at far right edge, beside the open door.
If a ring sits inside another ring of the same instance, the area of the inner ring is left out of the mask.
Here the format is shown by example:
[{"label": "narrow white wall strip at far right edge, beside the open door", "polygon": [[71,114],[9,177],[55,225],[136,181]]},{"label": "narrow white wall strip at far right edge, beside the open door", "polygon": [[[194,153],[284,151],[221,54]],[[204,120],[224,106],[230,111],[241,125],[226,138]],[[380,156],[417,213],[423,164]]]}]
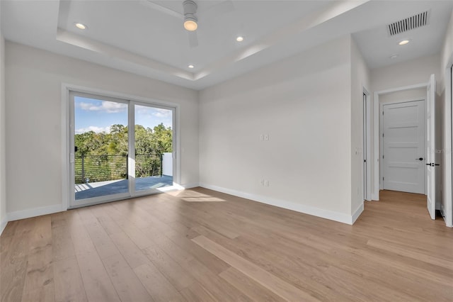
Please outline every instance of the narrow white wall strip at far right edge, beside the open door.
[{"label": "narrow white wall strip at far right edge, beside the open door", "polygon": [[447,217],[447,225],[453,226],[452,201],[452,80],[450,67],[453,65],[453,12],[445,34],[440,63],[440,100],[442,101],[442,117],[444,139],[442,144],[443,181],[441,208]]}]

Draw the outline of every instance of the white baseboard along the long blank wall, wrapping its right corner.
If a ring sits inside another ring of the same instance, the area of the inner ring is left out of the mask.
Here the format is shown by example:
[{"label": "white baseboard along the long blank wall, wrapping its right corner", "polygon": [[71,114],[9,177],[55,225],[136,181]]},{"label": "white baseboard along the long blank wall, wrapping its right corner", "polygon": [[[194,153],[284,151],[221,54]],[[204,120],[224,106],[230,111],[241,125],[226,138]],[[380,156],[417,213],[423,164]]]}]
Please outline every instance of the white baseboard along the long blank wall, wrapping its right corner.
[{"label": "white baseboard along the long blank wall, wrapping its right corner", "polygon": [[222,192],[225,194],[230,194],[230,195],[238,196],[241,198],[251,199],[252,201],[258,201],[260,203],[265,203],[270,206],[286,208],[287,210],[292,210],[292,211],[296,211],[296,212],[300,212],[300,213],[304,213],[304,214],[309,214],[312,216],[326,218],[329,220],[338,221],[340,223],[346,223],[348,225],[352,225],[352,223],[354,223],[355,219],[357,219],[360,216],[360,213],[362,213],[362,211],[363,211],[363,203],[359,208],[357,208],[357,211],[355,211],[354,216],[350,216],[350,215],[343,214],[343,213],[323,210],[322,208],[316,208],[314,206],[305,206],[300,203],[293,203],[291,201],[283,201],[283,200],[271,198],[268,196],[249,194],[249,193],[245,193],[245,192],[241,192],[241,191],[222,188],[220,186],[213,186],[211,184],[200,183],[200,186],[202,186],[203,188],[206,188],[206,189],[219,191],[219,192]]}]

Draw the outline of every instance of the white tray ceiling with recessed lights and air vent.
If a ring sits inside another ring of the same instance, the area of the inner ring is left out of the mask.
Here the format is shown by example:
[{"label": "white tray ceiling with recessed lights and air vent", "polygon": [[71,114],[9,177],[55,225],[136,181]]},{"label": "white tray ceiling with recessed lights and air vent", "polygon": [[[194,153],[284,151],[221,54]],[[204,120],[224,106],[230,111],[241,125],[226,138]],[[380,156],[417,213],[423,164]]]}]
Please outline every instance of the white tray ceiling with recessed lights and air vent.
[{"label": "white tray ceiling with recessed lights and air vent", "polygon": [[[204,89],[348,34],[370,68],[432,55],[453,8],[453,1],[196,1],[198,45],[190,47],[182,2],[2,0],[1,29],[17,43]],[[423,11],[428,26],[389,37],[386,24]],[[403,38],[411,43],[399,46]]]}]

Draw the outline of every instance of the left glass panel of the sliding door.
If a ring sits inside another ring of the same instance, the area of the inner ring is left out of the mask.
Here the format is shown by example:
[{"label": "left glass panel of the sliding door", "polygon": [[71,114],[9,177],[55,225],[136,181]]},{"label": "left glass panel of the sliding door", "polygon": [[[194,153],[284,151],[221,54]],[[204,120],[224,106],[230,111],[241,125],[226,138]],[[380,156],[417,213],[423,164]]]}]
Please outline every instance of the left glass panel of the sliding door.
[{"label": "left glass panel of the sliding door", "polygon": [[74,204],[130,196],[127,103],[72,94]]}]

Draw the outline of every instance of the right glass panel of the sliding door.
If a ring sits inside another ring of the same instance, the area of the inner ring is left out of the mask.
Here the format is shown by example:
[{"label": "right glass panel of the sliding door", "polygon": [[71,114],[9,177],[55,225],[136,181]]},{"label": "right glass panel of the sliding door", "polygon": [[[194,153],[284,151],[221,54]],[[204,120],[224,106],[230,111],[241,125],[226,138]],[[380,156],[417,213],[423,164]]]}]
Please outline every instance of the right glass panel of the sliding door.
[{"label": "right glass panel of the sliding door", "polygon": [[173,186],[173,110],[134,104],[135,191]]}]

